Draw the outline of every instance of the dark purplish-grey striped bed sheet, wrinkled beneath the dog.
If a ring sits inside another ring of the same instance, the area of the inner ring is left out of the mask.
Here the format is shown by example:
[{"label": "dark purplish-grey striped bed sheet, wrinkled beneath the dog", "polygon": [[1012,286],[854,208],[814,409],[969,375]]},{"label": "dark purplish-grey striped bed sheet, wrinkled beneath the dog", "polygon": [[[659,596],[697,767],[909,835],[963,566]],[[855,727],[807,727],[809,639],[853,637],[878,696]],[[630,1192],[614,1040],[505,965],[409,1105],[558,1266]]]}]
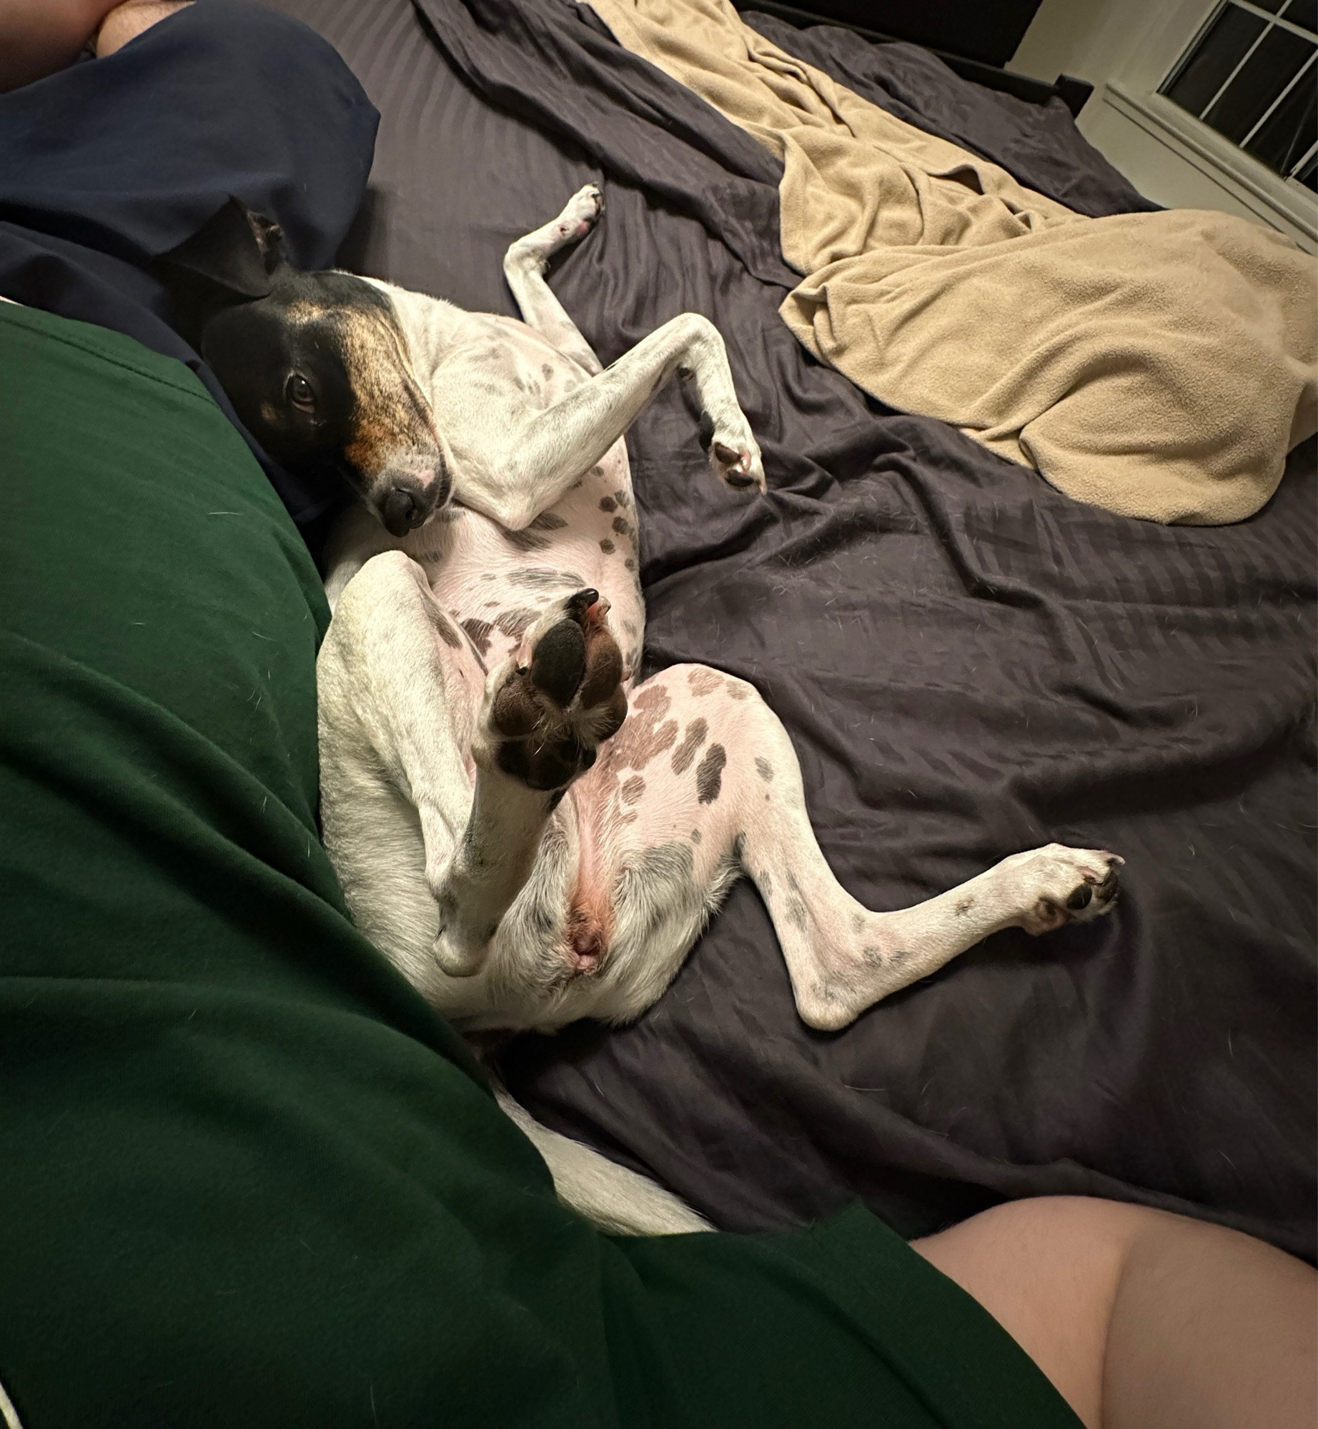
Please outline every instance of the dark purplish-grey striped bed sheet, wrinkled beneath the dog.
[{"label": "dark purplish-grey striped bed sheet, wrinkled beneath the dog", "polygon": [[[709,480],[680,387],[633,427],[646,669],[696,660],[759,687],[849,892],[902,906],[1051,839],[1126,859],[1112,917],[999,935],[836,1035],[796,1017],[743,882],[639,1022],[506,1045],[513,1093],[726,1229],[859,1198],[915,1236],[1074,1193],[1312,1260],[1314,442],[1228,527],[1072,502],[805,353],[778,316],[796,276],[776,161],[589,9],[277,9],[382,111],[345,266],[512,313],[505,247],[593,180],[606,217],[550,282],[605,362],[683,310],[725,334],[771,494]],[[1152,207],[1059,99],[746,19],[1079,211]]]}]

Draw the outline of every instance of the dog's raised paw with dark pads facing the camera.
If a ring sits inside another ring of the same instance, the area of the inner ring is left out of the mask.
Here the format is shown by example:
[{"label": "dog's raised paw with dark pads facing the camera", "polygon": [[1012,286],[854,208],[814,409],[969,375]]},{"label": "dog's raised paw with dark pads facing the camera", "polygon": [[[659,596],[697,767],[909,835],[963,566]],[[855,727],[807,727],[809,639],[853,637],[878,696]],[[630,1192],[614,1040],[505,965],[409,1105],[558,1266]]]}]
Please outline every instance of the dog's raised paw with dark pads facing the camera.
[{"label": "dog's raised paw with dark pads facing the camera", "polygon": [[486,683],[472,756],[527,789],[565,789],[622,726],[623,662],[596,590],[555,602]]}]

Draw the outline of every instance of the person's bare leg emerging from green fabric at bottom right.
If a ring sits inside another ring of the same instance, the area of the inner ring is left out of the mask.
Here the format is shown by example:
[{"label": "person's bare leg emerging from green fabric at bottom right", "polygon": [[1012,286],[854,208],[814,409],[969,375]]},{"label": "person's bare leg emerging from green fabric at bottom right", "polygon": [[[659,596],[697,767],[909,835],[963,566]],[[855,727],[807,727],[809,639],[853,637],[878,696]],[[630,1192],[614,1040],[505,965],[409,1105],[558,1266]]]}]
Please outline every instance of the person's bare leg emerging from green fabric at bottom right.
[{"label": "person's bare leg emerging from green fabric at bottom right", "polygon": [[912,1242],[1088,1429],[1312,1429],[1318,1276],[1222,1226],[1045,1196]]}]

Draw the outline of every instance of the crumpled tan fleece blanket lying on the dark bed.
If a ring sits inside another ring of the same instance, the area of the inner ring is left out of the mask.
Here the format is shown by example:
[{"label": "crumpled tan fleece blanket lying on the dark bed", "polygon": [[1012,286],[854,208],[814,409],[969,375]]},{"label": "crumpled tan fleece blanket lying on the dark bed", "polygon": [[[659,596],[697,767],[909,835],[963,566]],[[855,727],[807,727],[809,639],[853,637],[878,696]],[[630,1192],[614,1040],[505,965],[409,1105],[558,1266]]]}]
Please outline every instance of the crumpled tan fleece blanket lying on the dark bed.
[{"label": "crumpled tan fleece blanket lying on the dark bed", "polygon": [[728,0],[590,0],[620,44],[783,160],[782,304],[818,357],[1082,502],[1257,512],[1318,423],[1315,260],[1198,210],[1089,219],[742,24]]}]

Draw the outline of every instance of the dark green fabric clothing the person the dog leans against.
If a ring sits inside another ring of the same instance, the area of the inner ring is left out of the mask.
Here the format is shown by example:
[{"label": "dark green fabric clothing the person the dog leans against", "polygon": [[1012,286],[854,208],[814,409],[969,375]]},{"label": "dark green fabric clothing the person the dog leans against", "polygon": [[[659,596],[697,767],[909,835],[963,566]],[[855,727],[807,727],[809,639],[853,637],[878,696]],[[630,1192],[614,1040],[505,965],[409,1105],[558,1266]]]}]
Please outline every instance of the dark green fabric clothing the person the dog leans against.
[{"label": "dark green fabric clothing the person the dog leans against", "polygon": [[0,1383],[26,1429],[1075,1420],[862,1210],[553,1199],[316,837],[327,612],[196,379],[0,304]]}]

